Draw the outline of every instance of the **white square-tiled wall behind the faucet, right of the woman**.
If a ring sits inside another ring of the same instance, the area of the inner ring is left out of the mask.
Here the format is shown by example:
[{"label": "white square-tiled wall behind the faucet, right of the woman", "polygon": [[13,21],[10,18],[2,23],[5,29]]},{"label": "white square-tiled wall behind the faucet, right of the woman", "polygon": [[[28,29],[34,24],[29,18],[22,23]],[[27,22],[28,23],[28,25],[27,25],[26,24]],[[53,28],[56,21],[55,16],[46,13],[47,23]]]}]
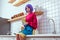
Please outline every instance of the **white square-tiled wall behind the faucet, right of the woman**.
[{"label": "white square-tiled wall behind the faucet, right of the woman", "polygon": [[[59,4],[60,4],[60,0],[44,0],[44,1],[40,1],[39,2],[41,7],[46,11],[45,14],[43,16],[43,19],[40,20],[40,33],[52,33],[54,30],[54,26],[52,25],[51,22],[48,22],[47,20],[53,19],[55,22],[55,28],[56,28],[56,33],[59,33],[59,17],[60,17],[60,12],[58,13],[58,11],[60,10],[59,8]],[[45,18],[47,17],[47,19]],[[44,21],[44,22],[43,22]],[[41,26],[41,24],[43,24],[43,26]]]}]

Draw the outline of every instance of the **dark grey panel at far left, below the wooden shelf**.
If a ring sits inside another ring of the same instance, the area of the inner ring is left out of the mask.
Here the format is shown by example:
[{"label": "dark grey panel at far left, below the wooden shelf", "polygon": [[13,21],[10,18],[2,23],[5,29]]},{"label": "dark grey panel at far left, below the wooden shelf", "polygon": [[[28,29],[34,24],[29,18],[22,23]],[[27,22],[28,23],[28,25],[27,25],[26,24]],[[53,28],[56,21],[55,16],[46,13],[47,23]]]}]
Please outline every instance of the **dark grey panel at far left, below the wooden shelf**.
[{"label": "dark grey panel at far left, below the wooden shelf", "polygon": [[0,35],[7,35],[10,33],[10,23],[8,19],[0,18]]}]

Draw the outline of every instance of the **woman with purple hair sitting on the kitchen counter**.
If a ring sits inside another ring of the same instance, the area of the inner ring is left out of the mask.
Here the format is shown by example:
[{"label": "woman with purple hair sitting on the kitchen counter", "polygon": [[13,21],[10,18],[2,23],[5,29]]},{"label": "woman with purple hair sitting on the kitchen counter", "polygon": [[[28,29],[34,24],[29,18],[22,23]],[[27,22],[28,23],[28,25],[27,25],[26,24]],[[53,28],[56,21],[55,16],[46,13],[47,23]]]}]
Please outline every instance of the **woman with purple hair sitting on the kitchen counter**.
[{"label": "woman with purple hair sitting on the kitchen counter", "polygon": [[24,30],[20,31],[18,40],[25,40],[26,35],[32,35],[33,29],[37,28],[37,18],[33,12],[33,7],[31,4],[27,4],[25,7],[27,15],[25,16],[26,24],[24,25]]}]

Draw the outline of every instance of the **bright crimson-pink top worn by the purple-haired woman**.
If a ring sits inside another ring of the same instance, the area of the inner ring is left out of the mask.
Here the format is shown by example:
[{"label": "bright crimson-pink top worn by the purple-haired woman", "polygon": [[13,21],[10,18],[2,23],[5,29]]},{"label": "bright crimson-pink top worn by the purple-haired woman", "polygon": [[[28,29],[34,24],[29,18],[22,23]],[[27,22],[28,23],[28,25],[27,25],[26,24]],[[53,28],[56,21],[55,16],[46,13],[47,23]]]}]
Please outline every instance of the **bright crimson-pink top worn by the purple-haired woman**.
[{"label": "bright crimson-pink top worn by the purple-haired woman", "polygon": [[28,13],[28,15],[26,16],[26,22],[28,22],[28,24],[33,29],[37,28],[37,18],[36,18],[36,15],[33,12]]}]

